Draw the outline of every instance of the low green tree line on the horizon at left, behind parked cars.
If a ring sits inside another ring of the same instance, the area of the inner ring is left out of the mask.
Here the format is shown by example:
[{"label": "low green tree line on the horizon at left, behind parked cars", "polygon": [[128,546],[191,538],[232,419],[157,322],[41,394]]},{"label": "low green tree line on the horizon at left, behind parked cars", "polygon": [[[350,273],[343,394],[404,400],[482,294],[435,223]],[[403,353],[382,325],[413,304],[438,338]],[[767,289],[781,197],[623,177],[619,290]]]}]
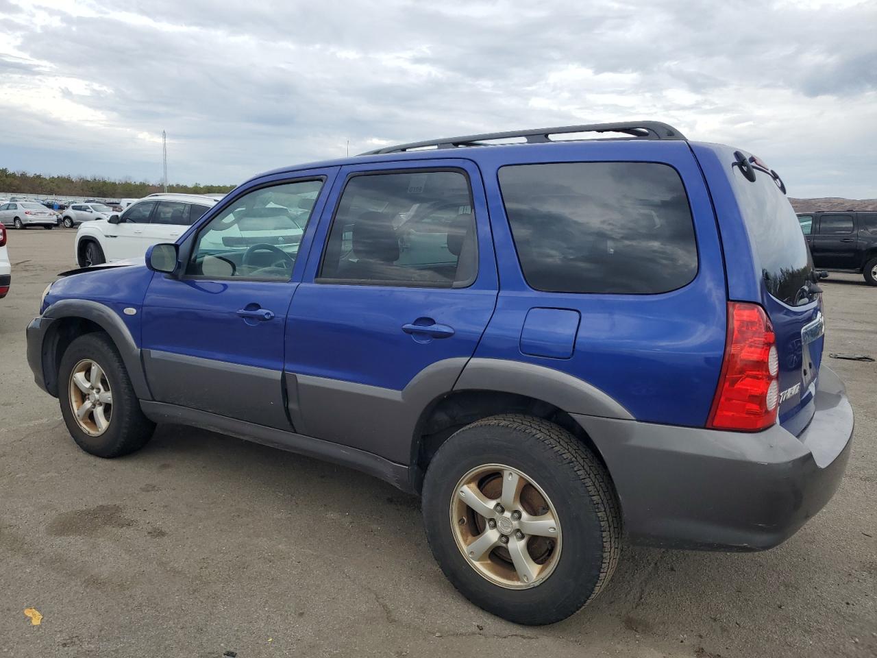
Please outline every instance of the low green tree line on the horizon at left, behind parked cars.
[{"label": "low green tree line on the horizon at left, behind parked cars", "polygon": [[[168,183],[168,192],[189,194],[225,194],[234,185],[182,185]],[[102,197],[102,198],[140,198],[154,192],[163,192],[159,183],[132,181],[124,179],[111,181],[98,176],[44,176],[28,174],[25,171],[11,171],[0,168],[0,191],[10,194],[38,194],[46,197]]]}]

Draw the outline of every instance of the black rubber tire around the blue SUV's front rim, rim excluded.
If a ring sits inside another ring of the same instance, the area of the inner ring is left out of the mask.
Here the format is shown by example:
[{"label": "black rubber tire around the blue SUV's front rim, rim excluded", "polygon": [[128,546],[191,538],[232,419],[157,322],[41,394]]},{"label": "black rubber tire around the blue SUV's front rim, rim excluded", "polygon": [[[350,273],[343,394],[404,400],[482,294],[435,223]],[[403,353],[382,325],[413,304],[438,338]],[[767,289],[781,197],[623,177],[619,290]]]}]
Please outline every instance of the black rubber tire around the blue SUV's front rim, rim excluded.
[{"label": "black rubber tire around the blue SUV's front rim, rim excluded", "polygon": [[[70,401],[70,377],[76,364],[83,359],[99,364],[112,391],[111,418],[100,436],[91,436],[82,430]],[[58,370],[58,398],[61,415],[70,435],[89,454],[104,458],[120,457],[139,450],[152,438],[155,425],[140,410],[125,362],[105,333],[87,333],[70,343],[61,357],[61,368]]]}]

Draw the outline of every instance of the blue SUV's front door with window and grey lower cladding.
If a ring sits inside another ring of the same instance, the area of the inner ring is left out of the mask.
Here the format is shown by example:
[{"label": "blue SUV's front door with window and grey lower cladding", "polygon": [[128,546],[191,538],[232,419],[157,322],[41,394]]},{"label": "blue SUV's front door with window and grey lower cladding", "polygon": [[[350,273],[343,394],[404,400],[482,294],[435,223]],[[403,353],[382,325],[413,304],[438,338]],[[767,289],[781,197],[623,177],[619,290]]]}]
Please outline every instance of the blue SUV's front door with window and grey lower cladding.
[{"label": "blue SUV's front door with window and grey lower cladding", "polygon": [[153,275],[142,347],[157,401],[292,429],[284,328],[314,232],[309,219],[336,170],[254,183],[184,236],[180,275]]}]

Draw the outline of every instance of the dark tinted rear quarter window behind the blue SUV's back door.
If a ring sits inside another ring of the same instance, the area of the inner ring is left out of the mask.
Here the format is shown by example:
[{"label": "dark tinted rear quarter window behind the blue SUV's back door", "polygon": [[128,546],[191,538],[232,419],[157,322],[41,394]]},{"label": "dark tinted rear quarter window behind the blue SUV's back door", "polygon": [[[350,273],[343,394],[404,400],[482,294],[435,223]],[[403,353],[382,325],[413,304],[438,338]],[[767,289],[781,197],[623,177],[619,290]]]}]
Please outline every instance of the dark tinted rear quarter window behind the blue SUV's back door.
[{"label": "dark tinted rear quarter window behind the blue SUV's back door", "polygon": [[691,209],[672,167],[514,165],[500,169],[499,182],[531,288],[654,294],[681,288],[697,274]]}]

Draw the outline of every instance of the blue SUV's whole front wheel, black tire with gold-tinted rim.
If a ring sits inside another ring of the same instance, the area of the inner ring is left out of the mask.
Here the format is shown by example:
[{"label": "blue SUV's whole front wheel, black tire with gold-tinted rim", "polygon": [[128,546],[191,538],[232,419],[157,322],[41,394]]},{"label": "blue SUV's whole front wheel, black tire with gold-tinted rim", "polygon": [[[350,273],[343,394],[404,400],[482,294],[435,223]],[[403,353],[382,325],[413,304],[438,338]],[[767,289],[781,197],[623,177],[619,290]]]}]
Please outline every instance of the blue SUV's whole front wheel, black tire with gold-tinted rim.
[{"label": "blue SUV's whole front wheel, black tire with gold-tinted rim", "polygon": [[140,410],[125,362],[105,333],[75,339],[58,370],[61,415],[76,444],[98,457],[146,445],[155,429]]}]

